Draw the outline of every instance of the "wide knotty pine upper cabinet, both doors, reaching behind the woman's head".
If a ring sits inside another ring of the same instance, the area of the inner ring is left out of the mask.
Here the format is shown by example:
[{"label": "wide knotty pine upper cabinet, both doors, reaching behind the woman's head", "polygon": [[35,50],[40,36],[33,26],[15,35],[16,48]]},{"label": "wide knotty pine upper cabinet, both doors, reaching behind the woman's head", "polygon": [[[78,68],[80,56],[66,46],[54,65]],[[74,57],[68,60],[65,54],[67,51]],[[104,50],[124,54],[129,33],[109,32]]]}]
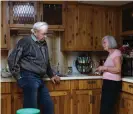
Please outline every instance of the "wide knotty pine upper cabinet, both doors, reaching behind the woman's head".
[{"label": "wide knotty pine upper cabinet, both doors, reaching behind the woman's head", "polygon": [[120,40],[119,8],[68,5],[65,14],[65,36],[61,39],[62,51],[103,50],[101,40],[105,35],[113,35],[117,41]]}]

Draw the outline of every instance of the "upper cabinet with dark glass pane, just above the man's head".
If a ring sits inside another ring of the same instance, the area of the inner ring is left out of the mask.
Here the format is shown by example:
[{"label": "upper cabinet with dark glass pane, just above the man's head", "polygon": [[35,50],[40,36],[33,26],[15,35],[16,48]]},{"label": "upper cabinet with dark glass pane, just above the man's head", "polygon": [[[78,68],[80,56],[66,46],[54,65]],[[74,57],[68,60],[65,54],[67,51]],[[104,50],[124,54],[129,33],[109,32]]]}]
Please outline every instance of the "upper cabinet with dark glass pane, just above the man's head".
[{"label": "upper cabinet with dark glass pane, just above the man's head", "polygon": [[64,2],[41,1],[39,7],[40,21],[52,30],[64,31]]}]

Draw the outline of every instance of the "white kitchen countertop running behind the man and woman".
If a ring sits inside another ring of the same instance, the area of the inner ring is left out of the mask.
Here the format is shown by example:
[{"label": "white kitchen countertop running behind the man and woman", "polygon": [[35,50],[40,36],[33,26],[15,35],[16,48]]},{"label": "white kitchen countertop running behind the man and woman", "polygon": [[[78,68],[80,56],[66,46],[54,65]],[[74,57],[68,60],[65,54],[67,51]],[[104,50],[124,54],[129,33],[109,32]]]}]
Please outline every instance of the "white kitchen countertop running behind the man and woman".
[{"label": "white kitchen countertop running behind the man and woman", "polygon": [[[68,77],[61,77],[61,80],[84,80],[84,79],[102,79],[102,76],[94,75],[68,75]],[[44,78],[44,80],[49,81],[49,78]],[[133,77],[124,77],[122,81],[133,83]],[[1,78],[0,82],[16,82],[13,77]]]}]

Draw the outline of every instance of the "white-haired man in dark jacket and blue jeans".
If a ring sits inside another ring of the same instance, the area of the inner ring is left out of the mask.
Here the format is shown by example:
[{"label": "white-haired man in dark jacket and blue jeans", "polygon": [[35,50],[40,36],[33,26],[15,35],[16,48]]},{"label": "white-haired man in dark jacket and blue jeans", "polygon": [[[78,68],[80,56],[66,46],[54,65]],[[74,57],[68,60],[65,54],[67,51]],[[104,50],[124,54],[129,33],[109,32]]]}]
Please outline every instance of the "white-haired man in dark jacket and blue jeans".
[{"label": "white-haired man in dark jacket and blue jeans", "polygon": [[37,108],[39,103],[44,114],[53,114],[53,102],[42,78],[47,74],[55,84],[60,82],[60,77],[53,75],[50,66],[45,41],[47,31],[47,23],[35,23],[31,29],[32,34],[19,40],[9,55],[8,64],[18,85],[23,89],[23,107]]}]

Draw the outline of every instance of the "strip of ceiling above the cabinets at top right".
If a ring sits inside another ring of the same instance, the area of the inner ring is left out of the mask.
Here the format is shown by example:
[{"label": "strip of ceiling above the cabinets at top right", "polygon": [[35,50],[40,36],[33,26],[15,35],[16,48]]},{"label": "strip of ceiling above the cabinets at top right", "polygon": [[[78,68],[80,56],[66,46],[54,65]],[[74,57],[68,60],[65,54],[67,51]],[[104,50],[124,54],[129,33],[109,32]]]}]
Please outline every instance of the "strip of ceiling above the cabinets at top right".
[{"label": "strip of ceiling above the cabinets at top right", "polygon": [[96,5],[112,5],[112,6],[120,6],[120,5],[124,5],[130,2],[133,2],[133,0],[131,1],[79,1],[80,3],[85,3],[85,4],[96,4]]}]

